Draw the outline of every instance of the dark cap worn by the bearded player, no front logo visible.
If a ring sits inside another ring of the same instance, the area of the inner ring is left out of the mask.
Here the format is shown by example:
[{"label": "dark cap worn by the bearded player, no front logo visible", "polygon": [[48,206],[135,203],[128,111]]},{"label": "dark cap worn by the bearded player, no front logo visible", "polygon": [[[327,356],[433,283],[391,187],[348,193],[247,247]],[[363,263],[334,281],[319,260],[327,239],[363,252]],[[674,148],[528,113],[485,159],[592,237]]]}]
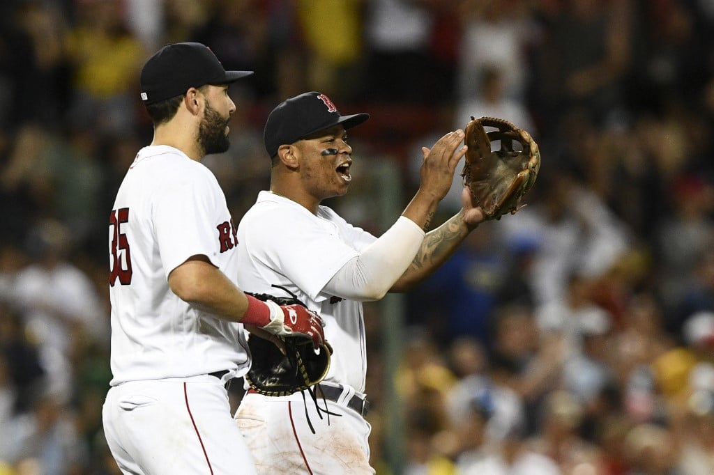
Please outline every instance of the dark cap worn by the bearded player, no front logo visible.
[{"label": "dark cap worn by the bearded player, no front logo visible", "polygon": [[208,46],[201,43],[168,44],[141,68],[144,104],[164,101],[205,84],[226,84],[253,71],[226,71]]}]

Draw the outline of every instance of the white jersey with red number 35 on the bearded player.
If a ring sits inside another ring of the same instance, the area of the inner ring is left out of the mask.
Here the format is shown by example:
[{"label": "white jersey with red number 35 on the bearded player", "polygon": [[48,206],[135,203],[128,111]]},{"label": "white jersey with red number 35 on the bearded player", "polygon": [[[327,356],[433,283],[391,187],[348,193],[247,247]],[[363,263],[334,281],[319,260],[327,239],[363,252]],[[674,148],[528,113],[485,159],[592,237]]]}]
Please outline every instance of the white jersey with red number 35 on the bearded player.
[{"label": "white jersey with red number 35 on the bearded player", "polygon": [[206,255],[233,280],[235,231],[211,170],[168,145],[139,151],[109,226],[112,386],[247,371],[239,325],[191,307],[167,281],[193,255]]}]

